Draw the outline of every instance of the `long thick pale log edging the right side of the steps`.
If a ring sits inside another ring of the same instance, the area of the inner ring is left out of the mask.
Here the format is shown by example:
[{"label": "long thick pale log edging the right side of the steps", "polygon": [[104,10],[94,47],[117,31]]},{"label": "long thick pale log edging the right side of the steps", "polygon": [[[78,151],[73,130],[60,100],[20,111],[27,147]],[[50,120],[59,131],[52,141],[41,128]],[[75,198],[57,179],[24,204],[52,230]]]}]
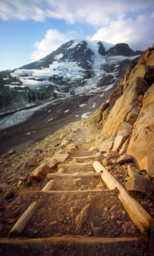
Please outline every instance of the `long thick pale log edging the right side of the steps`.
[{"label": "long thick pale log edging the right side of the steps", "polygon": [[144,231],[144,227],[147,227],[153,218],[146,212],[146,210],[134,199],[132,198],[125,188],[118,182],[118,180],[109,173],[104,166],[99,163],[94,163],[94,169],[96,172],[101,172],[102,180],[106,183],[109,189],[115,189],[117,188],[118,191],[120,191],[120,195],[118,195],[118,198],[122,202],[123,206],[125,207],[125,210],[130,216],[130,219],[134,222],[134,224],[141,230],[141,232]]}]

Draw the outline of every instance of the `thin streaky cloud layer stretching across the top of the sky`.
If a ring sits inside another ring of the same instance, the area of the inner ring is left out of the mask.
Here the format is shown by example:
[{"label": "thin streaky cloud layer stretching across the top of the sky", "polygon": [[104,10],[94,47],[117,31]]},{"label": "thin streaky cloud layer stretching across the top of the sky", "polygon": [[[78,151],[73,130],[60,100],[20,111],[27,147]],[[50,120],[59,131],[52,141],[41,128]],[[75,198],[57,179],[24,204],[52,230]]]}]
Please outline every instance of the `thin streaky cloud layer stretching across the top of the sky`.
[{"label": "thin streaky cloud layer stretching across the top of the sky", "polygon": [[153,0],[1,0],[0,17],[10,19],[34,19],[46,17],[64,19],[70,24],[88,22],[92,25],[108,24],[122,13],[153,10]]}]

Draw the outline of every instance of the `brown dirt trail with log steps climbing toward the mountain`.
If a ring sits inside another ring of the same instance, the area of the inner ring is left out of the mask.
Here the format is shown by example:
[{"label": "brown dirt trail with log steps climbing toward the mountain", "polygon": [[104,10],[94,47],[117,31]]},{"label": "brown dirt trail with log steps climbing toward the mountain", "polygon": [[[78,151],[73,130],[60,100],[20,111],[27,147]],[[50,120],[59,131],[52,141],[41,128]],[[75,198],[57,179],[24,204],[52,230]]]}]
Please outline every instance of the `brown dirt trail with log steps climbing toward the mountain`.
[{"label": "brown dirt trail with log steps climbing toward the mountain", "polygon": [[[94,152],[88,149],[94,146],[96,131],[78,127],[71,127],[78,149],[57,172],[94,173]],[[118,191],[109,190],[101,177],[55,177],[50,191],[24,191],[25,204],[37,202],[38,207],[21,234],[0,241],[3,255],[150,255]],[[132,232],[127,232],[130,224]]]}]

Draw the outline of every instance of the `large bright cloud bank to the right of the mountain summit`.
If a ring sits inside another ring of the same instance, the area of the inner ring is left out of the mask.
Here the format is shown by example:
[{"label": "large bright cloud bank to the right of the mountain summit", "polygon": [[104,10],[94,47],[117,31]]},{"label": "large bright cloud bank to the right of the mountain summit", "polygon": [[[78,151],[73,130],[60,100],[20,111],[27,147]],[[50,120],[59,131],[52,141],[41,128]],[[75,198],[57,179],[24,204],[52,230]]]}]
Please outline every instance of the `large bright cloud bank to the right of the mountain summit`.
[{"label": "large bright cloud bank to the right of the mountain summit", "polygon": [[111,44],[127,43],[134,50],[145,50],[153,44],[152,17],[139,15],[136,20],[113,21],[92,36],[91,40],[102,40]]}]

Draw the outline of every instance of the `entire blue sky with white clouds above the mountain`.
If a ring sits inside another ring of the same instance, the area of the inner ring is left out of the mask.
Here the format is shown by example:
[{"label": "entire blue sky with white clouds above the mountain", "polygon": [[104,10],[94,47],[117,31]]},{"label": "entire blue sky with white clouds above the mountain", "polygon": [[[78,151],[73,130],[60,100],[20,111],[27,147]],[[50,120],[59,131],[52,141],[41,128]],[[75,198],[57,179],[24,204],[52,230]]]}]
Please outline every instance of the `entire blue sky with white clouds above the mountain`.
[{"label": "entire blue sky with white clouds above the mountain", "polygon": [[0,0],[0,70],[45,57],[71,39],[127,43],[154,40],[153,0]]}]

